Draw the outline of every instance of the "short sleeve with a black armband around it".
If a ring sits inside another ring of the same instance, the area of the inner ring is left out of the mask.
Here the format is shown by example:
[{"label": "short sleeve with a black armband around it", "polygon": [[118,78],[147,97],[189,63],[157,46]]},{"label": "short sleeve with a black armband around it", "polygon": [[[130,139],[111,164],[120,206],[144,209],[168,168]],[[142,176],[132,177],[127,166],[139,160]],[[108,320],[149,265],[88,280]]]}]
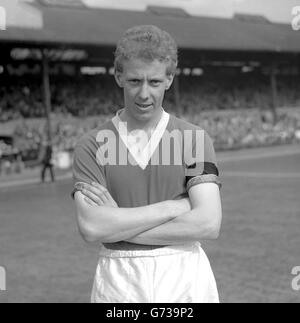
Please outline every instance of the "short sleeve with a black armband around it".
[{"label": "short sleeve with a black armband around it", "polygon": [[201,183],[216,183],[222,187],[212,139],[204,130],[195,130],[185,151],[186,189]]}]

